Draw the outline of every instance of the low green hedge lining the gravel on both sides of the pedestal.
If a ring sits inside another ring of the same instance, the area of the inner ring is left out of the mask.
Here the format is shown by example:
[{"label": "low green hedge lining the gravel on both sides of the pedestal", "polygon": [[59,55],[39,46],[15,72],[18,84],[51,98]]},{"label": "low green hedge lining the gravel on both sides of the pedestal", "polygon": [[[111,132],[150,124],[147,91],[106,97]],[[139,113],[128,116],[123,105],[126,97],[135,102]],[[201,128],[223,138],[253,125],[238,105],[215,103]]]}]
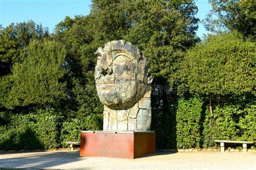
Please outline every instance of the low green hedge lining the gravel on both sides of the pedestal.
[{"label": "low green hedge lining the gravel on both sides of the pedestal", "polygon": [[[197,97],[178,100],[176,112],[154,123],[157,148],[215,147],[215,139],[255,140],[256,105],[227,105],[215,107],[210,114],[204,111],[203,101]],[[3,115],[3,114],[2,114]],[[174,116],[175,115],[175,116]],[[168,117],[169,116],[169,117]],[[172,119],[176,124],[172,123]],[[103,115],[91,114],[83,120],[64,118],[54,110],[39,110],[29,114],[10,116],[10,122],[0,125],[0,149],[48,149],[66,147],[65,141],[80,141],[82,130],[102,130]],[[160,122],[161,121],[161,122]],[[163,122],[166,124],[159,124]],[[166,126],[166,128],[163,128]],[[167,139],[166,142],[164,142]],[[176,143],[176,146],[173,144]]]}]

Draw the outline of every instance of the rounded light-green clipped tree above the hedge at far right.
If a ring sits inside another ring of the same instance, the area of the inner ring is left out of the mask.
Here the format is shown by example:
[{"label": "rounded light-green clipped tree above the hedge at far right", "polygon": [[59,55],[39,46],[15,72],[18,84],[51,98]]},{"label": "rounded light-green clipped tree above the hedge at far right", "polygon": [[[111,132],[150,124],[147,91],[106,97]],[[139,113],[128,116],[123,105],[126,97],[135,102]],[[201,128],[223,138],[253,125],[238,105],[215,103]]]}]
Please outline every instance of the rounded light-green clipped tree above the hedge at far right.
[{"label": "rounded light-green clipped tree above the hedge at far right", "polygon": [[254,93],[254,66],[255,43],[219,33],[188,50],[181,74],[190,93],[208,96],[212,113],[213,99],[220,105],[221,97]]}]

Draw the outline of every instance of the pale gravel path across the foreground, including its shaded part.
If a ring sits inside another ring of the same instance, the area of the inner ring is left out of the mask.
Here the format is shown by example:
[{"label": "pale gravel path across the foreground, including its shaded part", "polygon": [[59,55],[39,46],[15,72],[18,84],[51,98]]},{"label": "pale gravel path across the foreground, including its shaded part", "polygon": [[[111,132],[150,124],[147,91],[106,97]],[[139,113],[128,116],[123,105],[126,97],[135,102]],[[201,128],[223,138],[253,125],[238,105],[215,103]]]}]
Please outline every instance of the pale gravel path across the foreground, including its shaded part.
[{"label": "pale gravel path across the foreground, including its shaded part", "polygon": [[255,162],[255,153],[242,152],[158,152],[137,159],[80,157],[79,151],[0,152],[0,169],[256,169]]}]

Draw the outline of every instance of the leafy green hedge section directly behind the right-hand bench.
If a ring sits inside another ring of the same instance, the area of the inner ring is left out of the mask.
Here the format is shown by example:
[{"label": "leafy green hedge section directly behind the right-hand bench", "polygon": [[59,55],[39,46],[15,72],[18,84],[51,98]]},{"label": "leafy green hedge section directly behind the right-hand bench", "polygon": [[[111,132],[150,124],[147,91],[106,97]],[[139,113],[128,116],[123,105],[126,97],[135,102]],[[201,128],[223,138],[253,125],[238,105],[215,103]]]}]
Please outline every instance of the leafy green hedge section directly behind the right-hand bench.
[{"label": "leafy green hedge section directly behind the right-hand bench", "polygon": [[239,106],[216,107],[213,114],[206,111],[204,122],[204,147],[213,147],[214,140],[255,139],[255,105],[246,108]]}]

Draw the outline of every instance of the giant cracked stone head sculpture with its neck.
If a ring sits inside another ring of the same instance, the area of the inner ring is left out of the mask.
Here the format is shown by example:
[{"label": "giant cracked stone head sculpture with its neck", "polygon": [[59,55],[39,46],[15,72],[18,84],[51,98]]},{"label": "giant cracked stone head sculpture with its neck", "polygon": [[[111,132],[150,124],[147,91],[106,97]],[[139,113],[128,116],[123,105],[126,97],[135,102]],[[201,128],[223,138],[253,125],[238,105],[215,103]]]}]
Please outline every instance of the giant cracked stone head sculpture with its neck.
[{"label": "giant cracked stone head sculpture with its neck", "polygon": [[147,131],[151,124],[149,60],[131,43],[117,40],[96,51],[95,80],[104,104],[104,130]]}]

